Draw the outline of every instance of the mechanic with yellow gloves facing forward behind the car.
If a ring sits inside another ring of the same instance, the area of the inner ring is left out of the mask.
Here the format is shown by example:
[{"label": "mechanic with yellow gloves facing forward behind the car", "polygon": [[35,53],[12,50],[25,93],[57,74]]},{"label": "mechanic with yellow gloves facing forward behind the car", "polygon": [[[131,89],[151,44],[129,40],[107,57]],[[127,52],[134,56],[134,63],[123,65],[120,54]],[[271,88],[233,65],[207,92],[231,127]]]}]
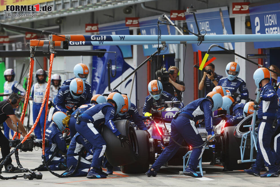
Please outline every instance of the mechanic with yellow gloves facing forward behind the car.
[{"label": "mechanic with yellow gloves facing forward behind the car", "polygon": [[[150,110],[152,113],[165,111],[165,109],[168,107],[168,105],[164,103],[165,101],[178,101],[176,97],[163,91],[163,87],[160,81],[152,80],[151,82],[149,82],[148,90],[150,95],[146,97],[146,101],[143,107],[143,115],[145,117],[149,117],[152,115],[150,113]],[[174,107],[178,107],[179,109],[183,106],[183,103],[174,104]]]}]

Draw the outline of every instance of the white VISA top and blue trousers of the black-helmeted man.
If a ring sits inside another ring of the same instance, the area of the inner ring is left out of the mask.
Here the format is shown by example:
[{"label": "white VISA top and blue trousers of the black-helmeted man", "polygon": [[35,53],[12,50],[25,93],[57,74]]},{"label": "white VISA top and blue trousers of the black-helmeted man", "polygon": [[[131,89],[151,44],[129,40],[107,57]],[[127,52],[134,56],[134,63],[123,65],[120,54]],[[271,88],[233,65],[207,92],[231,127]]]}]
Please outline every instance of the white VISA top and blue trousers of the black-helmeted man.
[{"label": "white VISA top and blue trousers of the black-helmeted man", "polygon": [[[37,82],[31,88],[31,97],[33,99],[33,107],[32,107],[33,123],[35,123],[37,116],[39,114],[46,90],[47,90],[47,83],[40,84],[39,82]],[[44,120],[45,120],[45,107],[43,108],[37,126],[34,129],[34,133],[38,139],[42,139]]]}]

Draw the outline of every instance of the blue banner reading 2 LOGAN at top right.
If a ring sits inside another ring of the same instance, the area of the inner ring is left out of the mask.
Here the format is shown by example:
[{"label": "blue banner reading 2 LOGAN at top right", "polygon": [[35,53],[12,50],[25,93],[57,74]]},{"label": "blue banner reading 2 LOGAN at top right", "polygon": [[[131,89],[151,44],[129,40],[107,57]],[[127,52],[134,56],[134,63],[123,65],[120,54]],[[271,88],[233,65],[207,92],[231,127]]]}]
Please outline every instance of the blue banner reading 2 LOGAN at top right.
[{"label": "blue banner reading 2 LOGAN at top right", "polygon": [[[280,34],[279,10],[280,3],[249,7],[252,34]],[[280,47],[280,42],[254,42],[254,47]]]}]

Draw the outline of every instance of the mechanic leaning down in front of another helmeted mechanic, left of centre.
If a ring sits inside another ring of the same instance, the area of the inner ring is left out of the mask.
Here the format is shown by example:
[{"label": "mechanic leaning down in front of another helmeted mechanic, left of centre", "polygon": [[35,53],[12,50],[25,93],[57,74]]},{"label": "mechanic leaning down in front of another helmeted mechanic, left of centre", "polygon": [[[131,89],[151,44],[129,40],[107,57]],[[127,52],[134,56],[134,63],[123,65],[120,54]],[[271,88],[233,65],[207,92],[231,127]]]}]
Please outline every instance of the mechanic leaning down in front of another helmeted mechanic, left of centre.
[{"label": "mechanic leaning down in front of another helmeted mechanic, left of centre", "polygon": [[51,124],[51,116],[55,112],[62,111],[67,115],[71,115],[76,108],[86,104],[85,97],[85,83],[80,78],[74,78],[71,80],[69,86],[61,86],[49,111],[46,126]]}]

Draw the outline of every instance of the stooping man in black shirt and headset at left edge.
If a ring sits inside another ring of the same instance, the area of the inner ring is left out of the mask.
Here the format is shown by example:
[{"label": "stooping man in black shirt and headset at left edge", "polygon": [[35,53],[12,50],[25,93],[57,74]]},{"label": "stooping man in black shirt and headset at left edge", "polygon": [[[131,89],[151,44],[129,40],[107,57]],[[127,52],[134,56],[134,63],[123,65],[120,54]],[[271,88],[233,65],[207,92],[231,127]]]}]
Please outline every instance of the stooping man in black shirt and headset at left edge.
[{"label": "stooping man in black shirt and headset at left edge", "polygon": [[[13,110],[19,106],[21,97],[16,93],[12,93],[12,95],[9,98],[10,99],[8,99],[8,100],[0,102],[0,124],[3,122],[6,122],[10,129],[17,132],[16,124],[18,122],[19,133],[23,136],[26,136],[27,132],[25,131],[23,124],[15,116],[15,113]],[[1,130],[0,130],[0,147],[1,147],[1,154],[4,159],[10,153],[10,146],[9,146],[9,140],[3,135]],[[12,159],[10,158],[5,163],[5,169],[7,169],[6,168],[7,165],[9,165],[11,163],[12,163]]]}]

